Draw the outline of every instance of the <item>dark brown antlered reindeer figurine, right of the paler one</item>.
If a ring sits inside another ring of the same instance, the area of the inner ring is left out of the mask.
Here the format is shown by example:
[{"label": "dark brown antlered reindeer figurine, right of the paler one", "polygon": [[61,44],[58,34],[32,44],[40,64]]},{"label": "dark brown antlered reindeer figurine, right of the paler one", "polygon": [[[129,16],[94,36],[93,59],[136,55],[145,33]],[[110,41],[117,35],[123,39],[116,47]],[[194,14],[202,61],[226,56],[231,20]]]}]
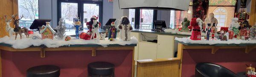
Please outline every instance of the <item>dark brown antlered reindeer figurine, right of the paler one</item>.
[{"label": "dark brown antlered reindeer figurine, right of the paler one", "polygon": [[15,28],[14,28],[14,32],[15,32],[15,40],[17,38],[17,34],[20,34],[20,39],[22,38],[22,33],[24,33],[26,35],[26,37],[29,37],[29,33],[28,33],[28,29],[26,27],[24,28],[20,28],[19,26],[19,20],[22,19],[24,16],[22,15],[18,20],[15,18],[18,14],[16,15],[12,15],[12,18],[14,20],[14,24],[15,24]]}]

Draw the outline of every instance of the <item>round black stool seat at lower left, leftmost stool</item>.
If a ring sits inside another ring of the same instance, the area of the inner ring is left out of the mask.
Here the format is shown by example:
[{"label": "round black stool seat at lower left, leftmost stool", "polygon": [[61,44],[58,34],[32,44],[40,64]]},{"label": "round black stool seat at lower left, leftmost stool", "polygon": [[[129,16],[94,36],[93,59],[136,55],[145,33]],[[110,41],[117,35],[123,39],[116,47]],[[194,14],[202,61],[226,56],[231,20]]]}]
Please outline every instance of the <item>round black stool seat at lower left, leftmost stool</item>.
[{"label": "round black stool seat at lower left, leftmost stool", "polygon": [[60,68],[52,65],[34,66],[27,70],[27,77],[59,77]]}]

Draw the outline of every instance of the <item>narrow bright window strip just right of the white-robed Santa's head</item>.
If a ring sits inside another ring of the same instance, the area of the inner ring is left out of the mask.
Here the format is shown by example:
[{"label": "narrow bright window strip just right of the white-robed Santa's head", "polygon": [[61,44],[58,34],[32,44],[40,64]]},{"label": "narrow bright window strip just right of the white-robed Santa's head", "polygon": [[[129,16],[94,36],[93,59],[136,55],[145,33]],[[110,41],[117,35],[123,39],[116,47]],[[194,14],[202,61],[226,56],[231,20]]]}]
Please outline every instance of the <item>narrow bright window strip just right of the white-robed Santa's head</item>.
[{"label": "narrow bright window strip just right of the white-robed Santa's head", "polygon": [[132,26],[132,28],[134,27],[134,21],[135,21],[135,9],[129,9],[129,20],[130,20],[130,24]]}]

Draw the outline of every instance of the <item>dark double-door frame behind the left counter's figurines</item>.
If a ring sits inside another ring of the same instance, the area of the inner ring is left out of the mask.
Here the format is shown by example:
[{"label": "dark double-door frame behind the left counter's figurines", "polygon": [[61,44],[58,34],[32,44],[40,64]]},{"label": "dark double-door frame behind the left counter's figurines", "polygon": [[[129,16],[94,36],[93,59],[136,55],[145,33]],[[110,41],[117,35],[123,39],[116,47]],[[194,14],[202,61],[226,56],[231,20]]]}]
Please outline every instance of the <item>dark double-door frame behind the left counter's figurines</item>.
[{"label": "dark double-door frame behind the left counter's figurines", "polygon": [[[99,4],[99,22],[102,22],[103,20],[103,2],[102,1],[83,1],[83,0],[57,0],[57,18],[61,18],[61,3],[78,3],[78,14],[77,17],[80,18],[81,21],[81,25],[82,27],[84,27],[84,3],[88,3],[88,4]],[[57,20],[58,20],[57,19]],[[58,25],[58,21],[57,21],[57,25]],[[101,28],[103,28],[103,26],[101,26]]]}]

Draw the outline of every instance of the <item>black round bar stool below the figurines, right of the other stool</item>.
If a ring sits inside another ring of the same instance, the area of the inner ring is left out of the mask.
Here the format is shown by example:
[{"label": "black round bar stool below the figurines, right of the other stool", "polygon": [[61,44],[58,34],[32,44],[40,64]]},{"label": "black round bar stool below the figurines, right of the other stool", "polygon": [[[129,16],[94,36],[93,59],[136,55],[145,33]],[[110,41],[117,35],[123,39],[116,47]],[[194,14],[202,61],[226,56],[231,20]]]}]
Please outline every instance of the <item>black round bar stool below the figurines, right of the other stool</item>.
[{"label": "black round bar stool below the figurines, right of the other stool", "polygon": [[108,62],[88,64],[88,77],[114,77],[115,66]]}]

